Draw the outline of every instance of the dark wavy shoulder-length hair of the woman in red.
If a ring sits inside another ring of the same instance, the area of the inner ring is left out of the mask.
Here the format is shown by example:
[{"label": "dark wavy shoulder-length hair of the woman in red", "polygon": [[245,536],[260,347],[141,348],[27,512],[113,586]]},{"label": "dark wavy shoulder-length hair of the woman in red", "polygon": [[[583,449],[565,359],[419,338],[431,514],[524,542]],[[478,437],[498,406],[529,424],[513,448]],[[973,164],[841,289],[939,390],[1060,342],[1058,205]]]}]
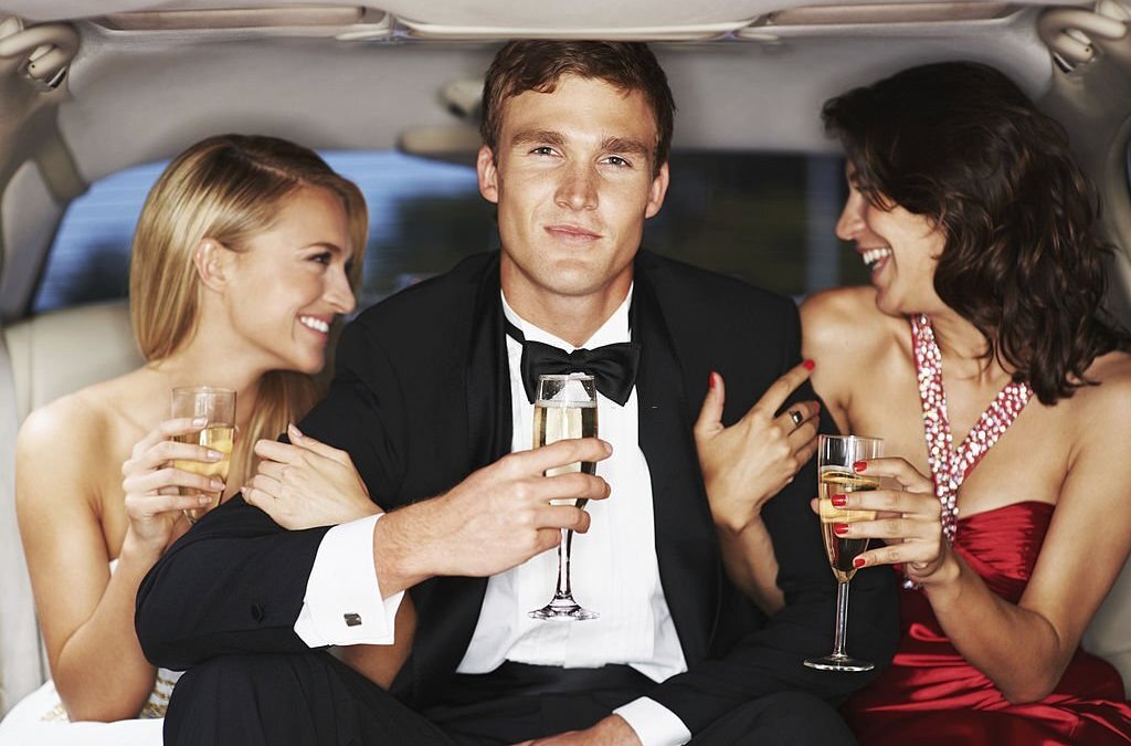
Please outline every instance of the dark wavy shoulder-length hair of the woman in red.
[{"label": "dark wavy shoulder-length hair of the woman in red", "polygon": [[880,209],[899,205],[946,237],[934,289],[1043,404],[1090,384],[1096,357],[1128,348],[1103,310],[1095,186],[1068,136],[985,65],[910,68],[826,102],[854,181]]}]

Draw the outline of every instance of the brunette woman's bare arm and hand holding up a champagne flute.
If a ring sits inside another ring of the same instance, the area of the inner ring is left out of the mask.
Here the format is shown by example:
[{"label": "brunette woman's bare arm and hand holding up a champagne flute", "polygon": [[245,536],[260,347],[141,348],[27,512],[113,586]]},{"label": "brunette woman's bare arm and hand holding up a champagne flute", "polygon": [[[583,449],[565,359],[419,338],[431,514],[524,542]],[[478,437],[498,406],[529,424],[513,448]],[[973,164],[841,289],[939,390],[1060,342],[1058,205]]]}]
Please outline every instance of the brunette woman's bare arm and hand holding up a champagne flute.
[{"label": "brunette woman's bare arm and hand holding up a champagne flute", "polygon": [[[1017,604],[991,591],[941,540],[933,495],[881,490],[848,498],[848,507],[907,516],[851,524],[847,535],[905,538],[862,557],[869,565],[912,563],[909,574],[922,583],[955,646],[1011,702],[1037,701],[1053,691],[1131,552],[1131,387],[1113,385],[1102,397],[1095,396],[1098,393],[1086,392],[1093,401],[1087,417],[1079,419],[1087,425],[1062,436],[1074,440],[1073,455],[1033,576]],[[1085,398],[1085,392],[1079,395]],[[1103,403],[1096,401],[1100,398]],[[906,462],[896,468],[873,463],[864,473],[896,475],[905,486],[914,481]],[[922,486],[914,489],[924,491]]]}]

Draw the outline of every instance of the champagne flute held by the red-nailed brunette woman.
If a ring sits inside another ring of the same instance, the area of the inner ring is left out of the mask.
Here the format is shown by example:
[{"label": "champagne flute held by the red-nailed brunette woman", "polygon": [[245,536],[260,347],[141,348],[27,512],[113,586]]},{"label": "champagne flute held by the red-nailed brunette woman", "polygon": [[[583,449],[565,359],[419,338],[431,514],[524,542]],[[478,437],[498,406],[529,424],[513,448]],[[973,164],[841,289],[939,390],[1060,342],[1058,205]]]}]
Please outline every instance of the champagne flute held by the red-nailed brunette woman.
[{"label": "champagne flute held by the red-nailed brunette woman", "polygon": [[857,474],[852,465],[857,461],[878,458],[883,453],[883,440],[855,435],[822,435],[817,447],[818,506],[821,514],[821,538],[829,566],[837,578],[837,620],[832,653],[824,658],[810,658],[805,666],[823,671],[870,671],[873,663],[856,660],[845,653],[848,625],[848,583],[856,574],[853,560],[867,549],[867,539],[838,537],[832,528],[837,523],[856,523],[875,520],[875,511],[846,511],[832,505],[834,495],[863,492],[880,488],[877,477]]}]

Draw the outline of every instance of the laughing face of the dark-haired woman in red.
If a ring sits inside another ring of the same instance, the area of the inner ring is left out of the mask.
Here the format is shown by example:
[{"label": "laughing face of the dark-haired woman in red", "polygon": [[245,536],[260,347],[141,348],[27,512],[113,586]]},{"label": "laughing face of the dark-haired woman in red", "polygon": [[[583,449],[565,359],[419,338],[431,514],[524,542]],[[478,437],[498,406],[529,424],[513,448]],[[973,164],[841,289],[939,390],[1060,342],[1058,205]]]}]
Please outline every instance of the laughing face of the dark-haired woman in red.
[{"label": "laughing face of the dark-haired woman in red", "polygon": [[855,243],[871,271],[879,309],[905,316],[942,307],[934,290],[934,269],[946,245],[942,231],[899,205],[890,209],[873,205],[857,189],[853,173],[849,165],[848,199],[837,221],[837,238]]}]

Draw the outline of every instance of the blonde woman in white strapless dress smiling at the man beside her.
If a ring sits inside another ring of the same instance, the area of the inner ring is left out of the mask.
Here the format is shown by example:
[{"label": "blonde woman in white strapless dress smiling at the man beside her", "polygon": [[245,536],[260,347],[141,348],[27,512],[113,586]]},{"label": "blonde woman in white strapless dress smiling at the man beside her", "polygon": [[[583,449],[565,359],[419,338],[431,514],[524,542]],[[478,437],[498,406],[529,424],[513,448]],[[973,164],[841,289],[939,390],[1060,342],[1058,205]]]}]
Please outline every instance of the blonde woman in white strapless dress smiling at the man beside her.
[{"label": "blonde woman in white strapless dress smiling at the man beside her", "polygon": [[[138,645],[138,584],[188,530],[182,511],[207,499],[180,488],[232,496],[254,471],[251,446],[314,402],[330,325],[354,308],[366,228],[356,186],[276,138],[208,138],[158,179],[130,268],[146,365],[33,412],[19,434],[19,528],[53,680],[0,740],[74,743],[81,730],[83,743],[159,743],[159,723],[43,721],[163,717],[174,675]],[[227,483],[171,465],[217,457],[174,441],[200,422],[167,419],[170,389],[200,384],[238,393]]]}]

